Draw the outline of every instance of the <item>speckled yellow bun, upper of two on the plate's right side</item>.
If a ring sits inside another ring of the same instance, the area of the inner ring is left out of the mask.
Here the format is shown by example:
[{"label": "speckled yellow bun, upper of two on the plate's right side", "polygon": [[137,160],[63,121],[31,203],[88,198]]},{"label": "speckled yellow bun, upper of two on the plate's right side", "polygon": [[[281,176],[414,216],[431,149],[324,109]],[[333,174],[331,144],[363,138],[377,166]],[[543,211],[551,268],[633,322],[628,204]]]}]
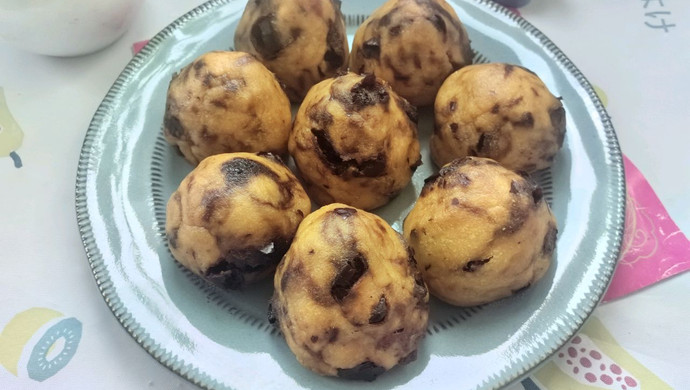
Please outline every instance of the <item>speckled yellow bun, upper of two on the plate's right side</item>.
[{"label": "speckled yellow bun, upper of two on the plate's right side", "polygon": [[431,157],[438,166],[479,156],[532,172],[551,165],[565,137],[560,99],[515,65],[472,65],[453,73],[438,91],[434,115]]}]

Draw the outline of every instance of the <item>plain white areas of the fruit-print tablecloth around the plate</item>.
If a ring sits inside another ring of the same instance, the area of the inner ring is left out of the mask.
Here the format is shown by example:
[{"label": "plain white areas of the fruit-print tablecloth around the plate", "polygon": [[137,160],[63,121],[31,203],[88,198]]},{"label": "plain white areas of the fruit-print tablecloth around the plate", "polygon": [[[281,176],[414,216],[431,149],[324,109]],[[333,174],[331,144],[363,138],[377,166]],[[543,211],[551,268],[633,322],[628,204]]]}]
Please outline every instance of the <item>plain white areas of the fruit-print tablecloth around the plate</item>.
[{"label": "plain white areas of the fruit-print tablecloth around the plate", "polygon": [[[196,388],[149,356],[104,303],[77,230],[74,184],[88,124],[131,59],[131,44],[200,3],[145,1],[122,39],[83,57],[44,57],[0,44],[0,86],[25,133],[24,167],[0,159],[0,327],[32,306],[85,324],[80,350],[49,382],[19,381],[0,367],[0,388]],[[623,152],[687,234],[690,2],[665,0],[677,24],[668,33],[644,25],[644,3],[532,0],[521,11],[606,92]],[[672,387],[687,389],[688,296],[686,273],[596,314],[638,361]]]}]

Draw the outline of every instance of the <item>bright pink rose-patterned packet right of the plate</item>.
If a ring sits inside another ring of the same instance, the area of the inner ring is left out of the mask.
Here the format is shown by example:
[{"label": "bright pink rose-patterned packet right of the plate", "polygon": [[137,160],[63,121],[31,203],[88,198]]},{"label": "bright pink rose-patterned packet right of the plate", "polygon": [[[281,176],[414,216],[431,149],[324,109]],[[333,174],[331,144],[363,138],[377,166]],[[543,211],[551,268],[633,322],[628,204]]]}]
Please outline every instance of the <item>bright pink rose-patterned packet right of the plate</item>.
[{"label": "bright pink rose-patterned packet right of the plate", "polygon": [[652,187],[623,157],[627,184],[625,233],[618,266],[603,302],[690,269],[690,242]]}]

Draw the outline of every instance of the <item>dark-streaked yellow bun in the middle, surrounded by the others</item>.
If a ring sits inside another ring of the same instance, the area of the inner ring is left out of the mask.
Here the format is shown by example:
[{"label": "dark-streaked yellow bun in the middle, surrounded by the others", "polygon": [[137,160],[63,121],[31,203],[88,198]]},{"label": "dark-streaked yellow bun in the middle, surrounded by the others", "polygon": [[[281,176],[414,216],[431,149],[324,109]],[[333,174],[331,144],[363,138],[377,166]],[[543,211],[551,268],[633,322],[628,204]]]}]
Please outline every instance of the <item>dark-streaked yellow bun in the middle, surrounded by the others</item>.
[{"label": "dark-streaked yellow bun in the middle, surrounded by the others", "polygon": [[421,163],[416,110],[373,75],[349,73],[309,91],[288,149],[319,204],[386,204]]}]

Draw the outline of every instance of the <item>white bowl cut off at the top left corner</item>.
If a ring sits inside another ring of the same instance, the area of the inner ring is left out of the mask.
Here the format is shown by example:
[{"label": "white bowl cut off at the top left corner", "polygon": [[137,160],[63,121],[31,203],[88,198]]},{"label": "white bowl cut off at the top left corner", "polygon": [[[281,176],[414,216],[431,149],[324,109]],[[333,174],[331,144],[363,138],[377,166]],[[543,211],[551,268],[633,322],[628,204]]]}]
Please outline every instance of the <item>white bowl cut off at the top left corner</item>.
[{"label": "white bowl cut off at the top left corner", "polygon": [[88,54],[122,36],[143,2],[0,0],[0,41],[38,54]]}]

